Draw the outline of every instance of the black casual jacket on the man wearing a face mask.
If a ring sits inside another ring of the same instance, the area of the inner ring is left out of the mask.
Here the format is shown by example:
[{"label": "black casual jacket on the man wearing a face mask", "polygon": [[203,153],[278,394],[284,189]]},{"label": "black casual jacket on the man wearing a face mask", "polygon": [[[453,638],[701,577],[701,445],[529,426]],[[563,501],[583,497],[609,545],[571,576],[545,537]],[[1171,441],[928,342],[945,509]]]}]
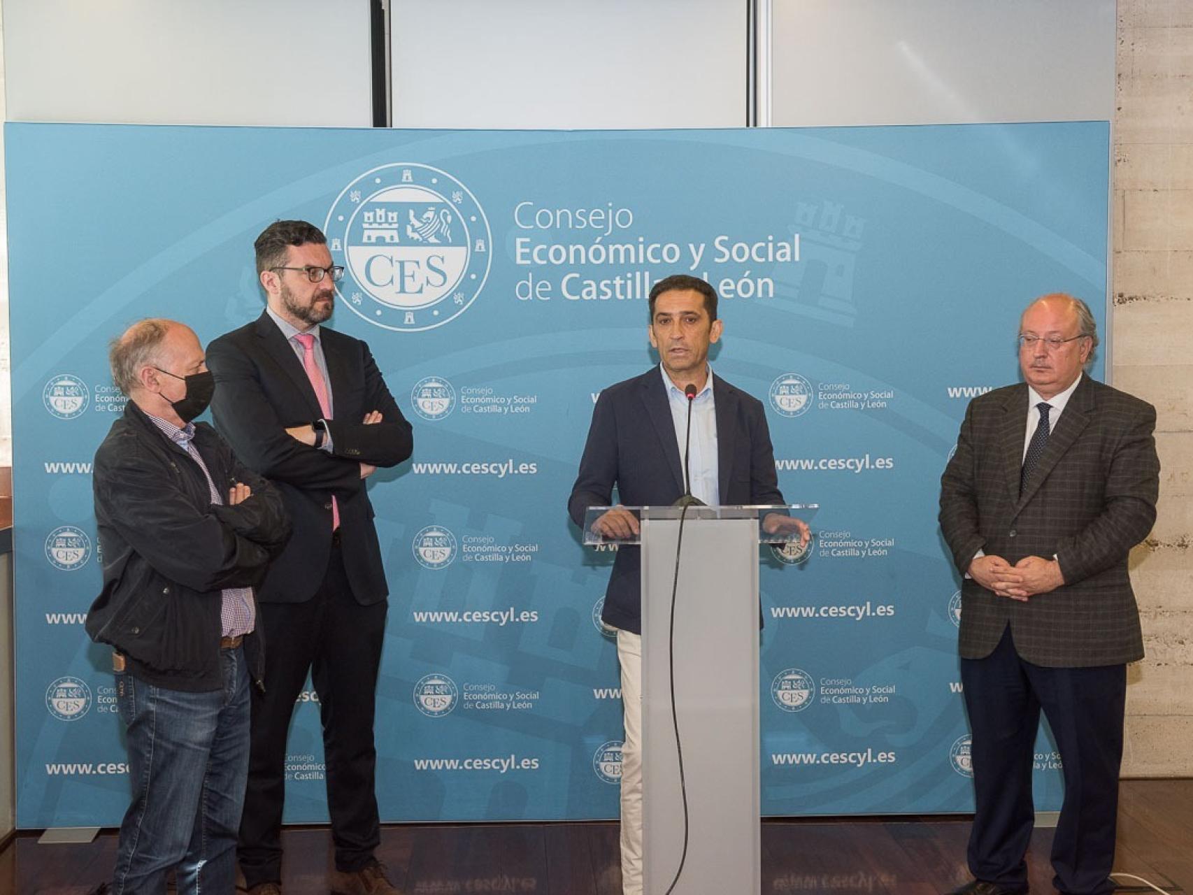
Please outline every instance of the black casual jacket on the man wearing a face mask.
[{"label": "black casual jacket on the man wearing a face mask", "polygon": [[[104,590],[87,634],[123,653],[129,671],[171,690],[223,686],[220,610],[225,587],[252,587],[290,537],[277,488],[241,465],[205,422],[194,448],[217,488],[245,482],[253,494],[215,506],[206,477],[131,401],[95,452],[95,523]],[[264,643],[246,638],[261,685]]]}]

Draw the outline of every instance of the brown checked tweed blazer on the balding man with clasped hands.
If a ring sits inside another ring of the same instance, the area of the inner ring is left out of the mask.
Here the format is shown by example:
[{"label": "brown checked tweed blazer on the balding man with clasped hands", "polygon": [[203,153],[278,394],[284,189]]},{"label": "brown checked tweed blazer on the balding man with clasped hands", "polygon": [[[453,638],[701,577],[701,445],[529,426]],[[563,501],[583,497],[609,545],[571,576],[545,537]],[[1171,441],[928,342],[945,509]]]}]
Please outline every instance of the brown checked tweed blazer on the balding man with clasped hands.
[{"label": "brown checked tweed blazer on the balding man with clasped hands", "polygon": [[1127,553],[1156,519],[1155,408],[1084,374],[1022,496],[1027,385],[973,399],[940,479],[940,529],[962,575],[981,549],[1014,564],[1053,555],[1065,584],[1020,603],[962,586],[960,654],[982,659],[1010,623],[1033,665],[1086,667],[1143,658]]}]

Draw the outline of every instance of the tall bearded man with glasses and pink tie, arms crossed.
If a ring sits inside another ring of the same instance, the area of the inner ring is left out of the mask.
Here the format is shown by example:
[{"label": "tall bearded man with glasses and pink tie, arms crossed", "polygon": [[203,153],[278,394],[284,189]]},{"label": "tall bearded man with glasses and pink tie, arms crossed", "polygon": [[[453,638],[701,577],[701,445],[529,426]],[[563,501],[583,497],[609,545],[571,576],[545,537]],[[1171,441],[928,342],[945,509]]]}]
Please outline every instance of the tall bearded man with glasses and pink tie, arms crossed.
[{"label": "tall bearded man with glasses and pink tie, arms crossed", "polygon": [[397,889],[375,854],[373,711],[389,590],[365,480],[410,456],[410,424],[369,346],[320,326],[344,276],[320,229],[276,221],[254,248],[265,313],[208,347],[218,384],[211,412],[237,456],[282,492],[293,536],[258,594],[270,648],[266,690],[253,698],[237,857],[249,893],[280,893],[286,739],[310,672],[335,845],[332,891],[385,895]]}]

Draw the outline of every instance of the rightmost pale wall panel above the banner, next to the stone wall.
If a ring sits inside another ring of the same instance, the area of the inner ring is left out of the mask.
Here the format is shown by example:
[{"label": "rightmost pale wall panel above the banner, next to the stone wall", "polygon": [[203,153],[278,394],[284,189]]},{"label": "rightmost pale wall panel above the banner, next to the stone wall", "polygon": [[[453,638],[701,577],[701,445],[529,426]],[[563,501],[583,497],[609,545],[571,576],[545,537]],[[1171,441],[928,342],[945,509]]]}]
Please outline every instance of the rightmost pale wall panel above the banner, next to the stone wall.
[{"label": "rightmost pale wall panel above the banner, next to the stone wall", "polygon": [[773,0],[777,126],[1105,121],[1114,0]]}]

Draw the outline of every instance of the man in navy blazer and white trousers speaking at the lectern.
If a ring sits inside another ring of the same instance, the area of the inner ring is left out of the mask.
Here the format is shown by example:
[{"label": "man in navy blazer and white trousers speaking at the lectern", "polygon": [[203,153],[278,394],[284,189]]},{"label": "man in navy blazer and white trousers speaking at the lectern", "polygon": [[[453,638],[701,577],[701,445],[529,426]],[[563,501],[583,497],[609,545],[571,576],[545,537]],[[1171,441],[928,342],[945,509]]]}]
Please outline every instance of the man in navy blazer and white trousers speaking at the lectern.
[{"label": "man in navy blazer and white trousers speaking at the lectern", "polygon": [[[717,294],[675,274],[650,290],[647,333],[661,368],[601,391],[593,409],[568,512],[608,506],[613,487],[625,506],[669,506],[685,494],[684,443],[691,400],[688,477],[705,504],[783,504],[762,403],[712,374],[709,346],[721,339]],[[692,393],[688,399],[685,394]],[[620,507],[620,505],[619,505]],[[638,533],[628,510],[613,508],[595,527],[608,538]],[[806,541],[806,529],[804,529]],[[605,593],[605,624],[617,629],[625,741],[622,748],[622,887],[642,893],[642,616],[641,550],[617,551]],[[710,644],[713,646],[713,644]]]}]

